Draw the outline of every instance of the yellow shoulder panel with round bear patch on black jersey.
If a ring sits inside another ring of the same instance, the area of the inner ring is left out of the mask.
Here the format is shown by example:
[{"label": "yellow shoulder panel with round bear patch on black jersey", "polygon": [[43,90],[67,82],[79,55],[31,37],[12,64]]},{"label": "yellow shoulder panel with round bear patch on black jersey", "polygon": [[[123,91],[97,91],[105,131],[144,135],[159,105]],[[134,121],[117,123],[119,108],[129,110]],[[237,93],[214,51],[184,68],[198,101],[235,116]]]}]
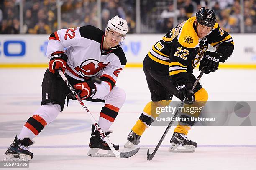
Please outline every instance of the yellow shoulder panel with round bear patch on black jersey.
[{"label": "yellow shoulder panel with round bear patch on black jersey", "polygon": [[195,48],[199,44],[199,37],[193,27],[195,17],[189,18],[181,28],[178,35],[178,42],[186,48]]}]

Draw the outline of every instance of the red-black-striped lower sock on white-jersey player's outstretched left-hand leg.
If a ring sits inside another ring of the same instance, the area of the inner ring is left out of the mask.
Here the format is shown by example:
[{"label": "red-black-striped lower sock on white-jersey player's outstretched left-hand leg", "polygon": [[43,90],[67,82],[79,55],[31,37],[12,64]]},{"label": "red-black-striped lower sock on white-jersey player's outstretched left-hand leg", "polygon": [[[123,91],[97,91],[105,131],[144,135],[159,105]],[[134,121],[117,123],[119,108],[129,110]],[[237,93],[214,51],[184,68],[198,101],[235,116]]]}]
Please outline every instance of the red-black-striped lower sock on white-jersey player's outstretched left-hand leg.
[{"label": "red-black-striped lower sock on white-jersey player's outstretched left-hand leg", "polygon": [[18,139],[30,138],[31,140],[38,135],[41,130],[47,125],[46,121],[39,115],[33,115],[28,119],[26,124],[23,126]]}]

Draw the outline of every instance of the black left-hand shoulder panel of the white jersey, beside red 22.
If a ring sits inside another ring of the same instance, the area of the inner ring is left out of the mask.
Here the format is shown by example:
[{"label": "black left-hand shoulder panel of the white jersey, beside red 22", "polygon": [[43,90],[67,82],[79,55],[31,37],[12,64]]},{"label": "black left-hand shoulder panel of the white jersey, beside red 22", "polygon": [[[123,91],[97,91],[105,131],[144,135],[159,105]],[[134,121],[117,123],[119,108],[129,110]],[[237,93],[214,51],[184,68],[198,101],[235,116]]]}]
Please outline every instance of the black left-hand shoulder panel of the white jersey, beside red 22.
[{"label": "black left-hand shoulder panel of the white jersey, beside red 22", "polygon": [[81,37],[101,43],[104,32],[97,27],[86,25],[80,27]]}]

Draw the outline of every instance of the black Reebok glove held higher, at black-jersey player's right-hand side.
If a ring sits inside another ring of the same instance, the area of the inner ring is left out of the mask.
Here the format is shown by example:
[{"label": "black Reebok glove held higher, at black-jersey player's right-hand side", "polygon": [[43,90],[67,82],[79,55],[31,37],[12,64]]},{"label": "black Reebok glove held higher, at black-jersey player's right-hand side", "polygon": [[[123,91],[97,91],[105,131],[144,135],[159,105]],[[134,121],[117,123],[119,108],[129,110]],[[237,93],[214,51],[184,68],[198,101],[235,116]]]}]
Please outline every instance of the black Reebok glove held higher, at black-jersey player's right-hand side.
[{"label": "black Reebok glove held higher, at black-jersey player's right-hand side", "polygon": [[205,74],[216,71],[219,67],[221,57],[221,54],[218,52],[206,51],[200,61],[199,71],[202,70],[202,67],[205,67]]}]

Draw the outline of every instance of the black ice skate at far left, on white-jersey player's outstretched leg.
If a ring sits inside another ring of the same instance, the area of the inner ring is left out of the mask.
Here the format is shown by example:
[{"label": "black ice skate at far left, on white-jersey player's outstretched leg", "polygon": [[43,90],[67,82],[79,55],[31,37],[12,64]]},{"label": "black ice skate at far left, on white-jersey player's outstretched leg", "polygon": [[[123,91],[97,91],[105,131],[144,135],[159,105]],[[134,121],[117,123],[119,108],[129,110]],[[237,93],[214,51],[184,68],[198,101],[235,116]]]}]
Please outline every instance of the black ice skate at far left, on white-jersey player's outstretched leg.
[{"label": "black ice skate at far left, on white-jersey player's outstretched leg", "polygon": [[24,138],[23,140],[18,139],[16,136],[12,145],[5,152],[5,158],[3,161],[28,161],[33,158],[33,153],[28,151],[30,145],[34,142],[29,138]]}]

